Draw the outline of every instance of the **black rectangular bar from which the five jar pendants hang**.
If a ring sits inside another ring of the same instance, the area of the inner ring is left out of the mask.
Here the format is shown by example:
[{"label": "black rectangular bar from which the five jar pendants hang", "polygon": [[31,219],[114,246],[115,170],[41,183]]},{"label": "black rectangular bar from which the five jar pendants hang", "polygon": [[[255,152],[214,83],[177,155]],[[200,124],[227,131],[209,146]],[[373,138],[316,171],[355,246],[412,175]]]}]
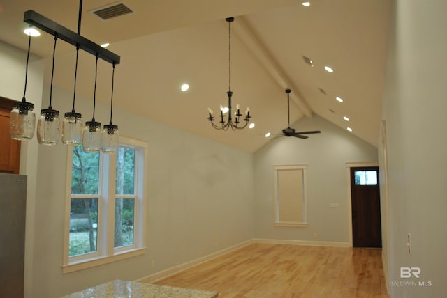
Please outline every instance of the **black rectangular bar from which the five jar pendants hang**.
[{"label": "black rectangular bar from which the five jar pendants hang", "polygon": [[65,40],[75,47],[79,46],[80,49],[83,49],[85,52],[89,52],[94,56],[98,54],[99,58],[107,61],[108,63],[119,64],[119,56],[117,54],[110,52],[108,49],[104,49],[100,45],[97,45],[91,40],[80,36],[78,33],[75,33],[70,29],[66,29],[66,27],[61,26],[56,22],[53,22],[51,19],[36,13],[34,10],[26,11],[24,13],[23,20],[24,22],[27,22],[38,29],[50,33],[52,36],[57,35],[57,38]]}]

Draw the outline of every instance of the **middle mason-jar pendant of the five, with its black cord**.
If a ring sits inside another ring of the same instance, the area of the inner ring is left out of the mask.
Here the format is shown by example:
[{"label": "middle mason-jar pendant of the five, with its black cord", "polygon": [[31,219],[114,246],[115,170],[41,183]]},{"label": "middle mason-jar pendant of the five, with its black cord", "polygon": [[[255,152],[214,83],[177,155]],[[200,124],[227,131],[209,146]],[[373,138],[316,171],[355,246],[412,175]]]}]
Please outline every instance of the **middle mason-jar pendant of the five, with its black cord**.
[{"label": "middle mason-jar pendant of the five, with its black cord", "polygon": [[76,64],[75,64],[75,87],[73,88],[73,108],[71,112],[64,114],[62,121],[62,143],[78,145],[81,143],[82,135],[82,115],[75,111],[76,100],[76,77],[78,75],[78,55],[79,45],[76,47]]}]

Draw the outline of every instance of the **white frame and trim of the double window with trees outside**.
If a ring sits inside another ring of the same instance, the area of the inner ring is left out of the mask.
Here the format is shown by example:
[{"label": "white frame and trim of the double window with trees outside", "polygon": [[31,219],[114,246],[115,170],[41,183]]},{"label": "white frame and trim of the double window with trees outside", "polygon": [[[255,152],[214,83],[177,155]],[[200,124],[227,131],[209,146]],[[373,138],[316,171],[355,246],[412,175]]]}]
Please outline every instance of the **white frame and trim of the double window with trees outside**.
[{"label": "white frame and trim of the double window with trees outside", "polygon": [[[148,144],[146,141],[132,139],[126,136],[119,136],[119,143],[120,147],[135,149],[135,194],[131,196],[115,194],[116,155],[103,154],[102,152],[99,161],[100,178],[98,181],[98,195],[72,195],[71,171],[73,164],[73,146],[68,146],[64,221],[64,261],[62,266],[62,272],[64,274],[108,264],[110,262],[117,262],[119,260],[140,256],[146,253],[147,183],[145,183],[145,180],[148,177]],[[113,170],[110,171],[110,168]],[[106,174],[108,175],[108,179],[103,179]],[[111,183],[109,184],[108,181]],[[97,250],[79,256],[68,256],[71,198],[77,197],[98,198]],[[133,245],[117,248],[114,247],[116,198],[135,198]]]}]

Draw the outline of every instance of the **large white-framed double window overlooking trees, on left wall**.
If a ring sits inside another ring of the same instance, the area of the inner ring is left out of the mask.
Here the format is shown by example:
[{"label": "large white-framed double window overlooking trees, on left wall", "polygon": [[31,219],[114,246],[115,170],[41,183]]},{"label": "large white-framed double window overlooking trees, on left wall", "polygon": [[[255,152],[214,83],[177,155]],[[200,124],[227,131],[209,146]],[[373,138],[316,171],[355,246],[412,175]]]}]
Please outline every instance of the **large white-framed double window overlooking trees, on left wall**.
[{"label": "large white-framed double window overlooking trees, on left wall", "polygon": [[116,154],[68,149],[64,273],[145,253],[147,143]]}]

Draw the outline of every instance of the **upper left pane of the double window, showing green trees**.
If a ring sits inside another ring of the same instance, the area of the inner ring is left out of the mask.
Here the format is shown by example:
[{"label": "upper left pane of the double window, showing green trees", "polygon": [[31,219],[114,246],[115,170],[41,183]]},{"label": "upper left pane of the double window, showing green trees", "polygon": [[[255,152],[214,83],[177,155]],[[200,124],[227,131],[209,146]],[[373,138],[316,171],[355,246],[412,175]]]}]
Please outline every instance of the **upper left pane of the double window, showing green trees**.
[{"label": "upper left pane of the double window, showing green trees", "polygon": [[85,152],[73,146],[71,194],[98,194],[99,152]]}]

